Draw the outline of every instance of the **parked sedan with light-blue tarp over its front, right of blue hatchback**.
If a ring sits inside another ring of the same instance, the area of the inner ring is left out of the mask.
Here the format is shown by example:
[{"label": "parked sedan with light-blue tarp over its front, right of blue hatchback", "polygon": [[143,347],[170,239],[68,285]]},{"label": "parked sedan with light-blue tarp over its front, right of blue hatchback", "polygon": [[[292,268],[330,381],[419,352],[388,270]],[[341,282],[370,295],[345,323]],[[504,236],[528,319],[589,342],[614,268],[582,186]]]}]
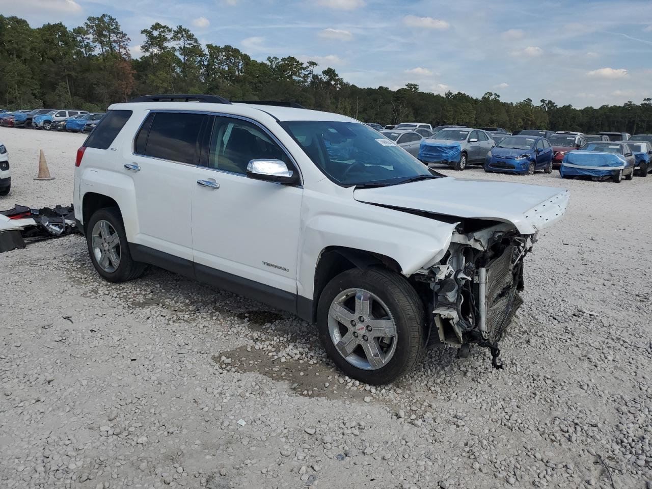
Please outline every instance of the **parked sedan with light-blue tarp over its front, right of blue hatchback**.
[{"label": "parked sedan with light-blue tarp over its front, right of blue hatchback", "polygon": [[561,178],[591,177],[594,180],[611,177],[620,183],[625,177],[634,177],[635,158],[627,143],[596,141],[564,156],[559,175]]}]

